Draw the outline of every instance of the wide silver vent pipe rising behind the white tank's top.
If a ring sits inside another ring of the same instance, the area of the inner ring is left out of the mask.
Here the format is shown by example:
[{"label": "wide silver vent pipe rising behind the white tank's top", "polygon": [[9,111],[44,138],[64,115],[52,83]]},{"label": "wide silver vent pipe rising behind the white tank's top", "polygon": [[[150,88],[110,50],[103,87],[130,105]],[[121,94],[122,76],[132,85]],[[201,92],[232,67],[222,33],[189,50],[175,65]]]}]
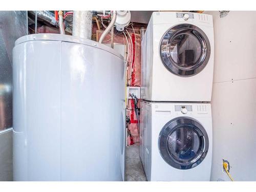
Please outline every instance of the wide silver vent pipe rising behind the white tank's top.
[{"label": "wide silver vent pipe rising behind the white tank's top", "polygon": [[72,35],[92,39],[92,16],[91,11],[74,11]]}]

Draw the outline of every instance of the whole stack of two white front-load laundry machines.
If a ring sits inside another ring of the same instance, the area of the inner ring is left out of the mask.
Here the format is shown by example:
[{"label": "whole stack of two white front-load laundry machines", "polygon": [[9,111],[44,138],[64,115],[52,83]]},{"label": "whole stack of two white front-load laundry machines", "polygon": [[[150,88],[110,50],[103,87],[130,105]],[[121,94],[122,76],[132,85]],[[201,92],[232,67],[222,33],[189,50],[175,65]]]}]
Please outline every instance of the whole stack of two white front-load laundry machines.
[{"label": "whole stack of two white front-load laundry machines", "polygon": [[209,181],[212,16],[154,12],[142,41],[140,158],[148,181]]}]

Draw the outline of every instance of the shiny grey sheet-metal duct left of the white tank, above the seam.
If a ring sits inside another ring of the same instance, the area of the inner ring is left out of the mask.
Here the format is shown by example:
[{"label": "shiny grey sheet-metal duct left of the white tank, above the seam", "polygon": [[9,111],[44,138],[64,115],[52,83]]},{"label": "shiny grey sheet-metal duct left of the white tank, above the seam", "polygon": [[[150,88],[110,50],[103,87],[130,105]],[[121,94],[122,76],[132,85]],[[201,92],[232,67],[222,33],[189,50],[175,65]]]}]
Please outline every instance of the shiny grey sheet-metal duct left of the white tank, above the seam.
[{"label": "shiny grey sheet-metal duct left of the white tank, above the seam", "polygon": [[0,11],[0,132],[12,127],[12,49],[27,34],[27,11]]}]

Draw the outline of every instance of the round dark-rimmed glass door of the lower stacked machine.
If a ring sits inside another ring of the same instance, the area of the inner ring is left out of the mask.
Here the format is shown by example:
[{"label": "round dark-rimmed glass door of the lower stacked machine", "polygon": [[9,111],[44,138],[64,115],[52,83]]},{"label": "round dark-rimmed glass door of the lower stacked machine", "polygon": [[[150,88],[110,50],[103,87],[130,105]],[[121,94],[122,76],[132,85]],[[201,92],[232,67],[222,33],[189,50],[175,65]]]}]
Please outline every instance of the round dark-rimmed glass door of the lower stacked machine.
[{"label": "round dark-rimmed glass door of the lower stacked machine", "polygon": [[208,146],[204,127],[190,117],[169,121],[159,135],[159,151],[162,158],[178,169],[199,165],[207,154]]}]

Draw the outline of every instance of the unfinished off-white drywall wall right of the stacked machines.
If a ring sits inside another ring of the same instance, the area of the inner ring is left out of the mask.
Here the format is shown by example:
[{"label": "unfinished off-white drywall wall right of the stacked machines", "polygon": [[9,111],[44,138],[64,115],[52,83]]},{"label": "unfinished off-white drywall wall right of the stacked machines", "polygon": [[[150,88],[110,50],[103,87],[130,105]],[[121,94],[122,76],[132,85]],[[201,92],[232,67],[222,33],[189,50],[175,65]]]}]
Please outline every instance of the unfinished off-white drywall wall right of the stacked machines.
[{"label": "unfinished off-white drywall wall right of the stacked machines", "polygon": [[214,17],[215,68],[212,89],[212,181],[256,181],[256,11]]}]

